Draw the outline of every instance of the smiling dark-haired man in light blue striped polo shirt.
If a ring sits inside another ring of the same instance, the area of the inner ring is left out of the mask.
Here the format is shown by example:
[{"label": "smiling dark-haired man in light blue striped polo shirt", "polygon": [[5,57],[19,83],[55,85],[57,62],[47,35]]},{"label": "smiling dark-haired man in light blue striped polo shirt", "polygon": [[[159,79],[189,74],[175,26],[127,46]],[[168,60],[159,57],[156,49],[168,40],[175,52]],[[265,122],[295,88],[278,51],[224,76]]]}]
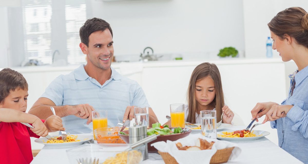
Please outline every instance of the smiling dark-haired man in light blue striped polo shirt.
[{"label": "smiling dark-haired man in light blue striped polo shirt", "polygon": [[[87,64],[51,82],[29,113],[46,119],[52,115],[50,107],[53,106],[63,119],[63,127],[71,134],[92,131],[93,110],[107,110],[109,126],[132,120],[134,106],[149,104],[136,81],[123,77],[111,67],[114,50],[109,23],[100,18],[88,19],[79,34],[79,47],[87,55]],[[150,125],[158,122],[151,108],[149,119]]]}]

